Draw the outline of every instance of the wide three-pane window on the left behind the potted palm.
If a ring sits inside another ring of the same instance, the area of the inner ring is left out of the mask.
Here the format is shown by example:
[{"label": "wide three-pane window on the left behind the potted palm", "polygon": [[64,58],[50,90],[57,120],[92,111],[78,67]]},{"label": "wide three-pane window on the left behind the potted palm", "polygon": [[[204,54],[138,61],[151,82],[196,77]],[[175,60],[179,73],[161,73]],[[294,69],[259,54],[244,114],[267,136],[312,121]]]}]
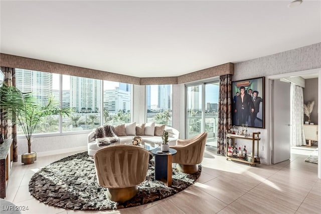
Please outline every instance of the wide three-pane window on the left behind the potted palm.
[{"label": "wide three-pane window on the left behind the potted palm", "polygon": [[43,104],[53,96],[62,107],[73,110],[68,117],[44,118],[35,131],[38,134],[92,130],[131,119],[131,84],[16,69],[16,86],[23,92],[33,92]]}]

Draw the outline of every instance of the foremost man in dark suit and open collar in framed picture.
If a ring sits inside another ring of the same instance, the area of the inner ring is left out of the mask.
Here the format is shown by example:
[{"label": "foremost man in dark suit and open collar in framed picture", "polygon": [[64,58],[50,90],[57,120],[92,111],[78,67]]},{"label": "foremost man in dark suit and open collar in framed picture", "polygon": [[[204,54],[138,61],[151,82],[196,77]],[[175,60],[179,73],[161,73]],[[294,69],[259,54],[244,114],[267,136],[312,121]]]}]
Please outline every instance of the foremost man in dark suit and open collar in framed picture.
[{"label": "foremost man in dark suit and open collar in framed picture", "polygon": [[240,95],[236,97],[234,112],[237,113],[238,124],[246,124],[249,113],[254,111],[254,105],[249,94],[245,94],[245,87],[240,87]]}]

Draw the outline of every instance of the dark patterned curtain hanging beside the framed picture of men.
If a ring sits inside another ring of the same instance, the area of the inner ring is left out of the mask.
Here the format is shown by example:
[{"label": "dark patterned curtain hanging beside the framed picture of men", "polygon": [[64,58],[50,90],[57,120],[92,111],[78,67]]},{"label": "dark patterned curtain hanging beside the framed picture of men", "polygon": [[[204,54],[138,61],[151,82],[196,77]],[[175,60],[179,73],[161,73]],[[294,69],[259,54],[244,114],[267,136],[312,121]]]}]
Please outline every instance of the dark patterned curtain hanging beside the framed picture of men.
[{"label": "dark patterned curtain hanging beside the framed picture of men", "polygon": [[220,76],[217,154],[225,155],[226,131],[232,128],[232,75]]}]

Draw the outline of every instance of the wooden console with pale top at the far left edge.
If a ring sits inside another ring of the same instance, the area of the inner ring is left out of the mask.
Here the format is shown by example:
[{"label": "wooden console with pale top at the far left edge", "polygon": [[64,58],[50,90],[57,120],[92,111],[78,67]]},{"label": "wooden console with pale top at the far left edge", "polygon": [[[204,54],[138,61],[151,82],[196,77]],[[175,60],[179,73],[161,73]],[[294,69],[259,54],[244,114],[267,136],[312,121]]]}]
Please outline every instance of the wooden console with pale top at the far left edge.
[{"label": "wooden console with pale top at the far left edge", "polygon": [[9,180],[9,174],[13,163],[13,139],[6,139],[0,145],[0,197],[6,197],[6,189]]}]

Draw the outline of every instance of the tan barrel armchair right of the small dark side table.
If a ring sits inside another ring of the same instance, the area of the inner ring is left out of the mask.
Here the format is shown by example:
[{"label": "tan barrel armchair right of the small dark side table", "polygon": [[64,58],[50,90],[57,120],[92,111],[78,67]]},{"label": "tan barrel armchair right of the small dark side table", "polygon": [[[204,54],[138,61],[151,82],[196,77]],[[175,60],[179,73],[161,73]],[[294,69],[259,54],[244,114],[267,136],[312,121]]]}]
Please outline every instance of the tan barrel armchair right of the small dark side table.
[{"label": "tan barrel armchair right of the small dark side table", "polygon": [[190,139],[178,139],[175,146],[170,146],[177,150],[172,162],[179,164],[177,168],[181,172],[193,174],[199,170],[198,164],[203,160],[206,138],[207,133],[203,132]]}]

